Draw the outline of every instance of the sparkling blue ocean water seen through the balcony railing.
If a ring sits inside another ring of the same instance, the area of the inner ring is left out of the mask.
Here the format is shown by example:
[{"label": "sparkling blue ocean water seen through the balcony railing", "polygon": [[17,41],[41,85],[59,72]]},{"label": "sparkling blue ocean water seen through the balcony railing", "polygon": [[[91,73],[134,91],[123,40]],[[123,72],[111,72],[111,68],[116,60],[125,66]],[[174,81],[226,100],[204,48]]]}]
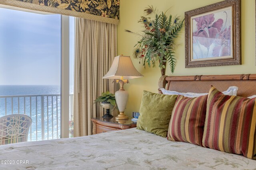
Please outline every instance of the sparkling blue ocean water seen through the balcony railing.
[{"label": "sparkling blue ocean water seen through the balcony railing", "polygon": [[0,85],[0,117],[24,113],[32,118],[28,141],[60,138],[60,86]]}]

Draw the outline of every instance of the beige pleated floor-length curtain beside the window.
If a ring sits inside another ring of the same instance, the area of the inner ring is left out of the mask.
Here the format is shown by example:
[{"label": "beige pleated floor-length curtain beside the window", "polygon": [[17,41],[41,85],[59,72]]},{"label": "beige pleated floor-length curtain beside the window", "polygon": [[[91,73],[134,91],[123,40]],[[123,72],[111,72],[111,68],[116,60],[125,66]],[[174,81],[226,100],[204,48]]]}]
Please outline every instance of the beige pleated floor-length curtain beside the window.
[{"label": "beige pleated floor-length curtain beside the window", "polygon": [[114,93],[113,80],[102,77],[117,54],[117,27],[114,24],[76,18],[74,66],[74,137],[92,134],[92,117],[104,115],[94,100],[102,92]]}]

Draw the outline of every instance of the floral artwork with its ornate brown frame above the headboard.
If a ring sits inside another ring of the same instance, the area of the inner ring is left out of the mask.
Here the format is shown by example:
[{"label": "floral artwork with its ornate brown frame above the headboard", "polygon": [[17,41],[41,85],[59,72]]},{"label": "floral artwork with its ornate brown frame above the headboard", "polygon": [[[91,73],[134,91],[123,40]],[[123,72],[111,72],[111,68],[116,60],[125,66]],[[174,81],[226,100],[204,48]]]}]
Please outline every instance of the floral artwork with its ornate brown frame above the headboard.
[{"label": "floral artwork with its ornate brown frame above the headboard", "polygon": [[240,0],[185,12],[185,67],[241,64]]}]

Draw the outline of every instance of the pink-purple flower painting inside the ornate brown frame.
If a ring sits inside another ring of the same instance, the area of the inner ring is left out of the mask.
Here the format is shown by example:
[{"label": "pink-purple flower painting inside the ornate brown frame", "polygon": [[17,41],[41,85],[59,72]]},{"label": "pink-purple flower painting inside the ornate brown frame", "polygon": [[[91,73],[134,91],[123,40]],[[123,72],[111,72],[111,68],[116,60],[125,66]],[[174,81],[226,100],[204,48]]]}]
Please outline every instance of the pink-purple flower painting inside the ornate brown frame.
[{"label": "pink-purple flower painting inside the ornate brown frame", "polygon": [[230,18],[225,10],[192,19],[193,59],[232,55]]}]

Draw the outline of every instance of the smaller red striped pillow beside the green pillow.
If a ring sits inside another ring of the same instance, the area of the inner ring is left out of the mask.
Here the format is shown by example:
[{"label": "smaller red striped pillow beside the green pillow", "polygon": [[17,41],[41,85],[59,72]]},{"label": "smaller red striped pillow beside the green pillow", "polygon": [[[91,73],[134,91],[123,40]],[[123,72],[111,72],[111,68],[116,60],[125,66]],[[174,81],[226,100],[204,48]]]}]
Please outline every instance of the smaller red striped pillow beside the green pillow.
[{"label": "smaller red striped pillow beside the green pillow", "polygon": [[207,96],[197,98],[178,96],[169,124],[167,138],[169,141],[202,146]]}]

